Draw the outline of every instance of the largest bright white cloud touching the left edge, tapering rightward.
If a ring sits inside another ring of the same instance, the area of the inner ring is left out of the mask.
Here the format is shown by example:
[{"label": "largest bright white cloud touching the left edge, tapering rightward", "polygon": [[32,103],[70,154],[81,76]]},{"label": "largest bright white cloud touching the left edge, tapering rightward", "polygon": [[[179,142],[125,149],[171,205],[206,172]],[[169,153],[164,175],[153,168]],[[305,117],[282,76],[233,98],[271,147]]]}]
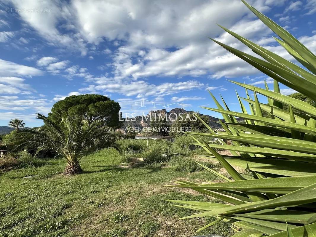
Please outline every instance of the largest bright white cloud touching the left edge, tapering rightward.
[{"label": "largest bright white cloud touching the left edge, tapering rightward", "polygon": [[0,59],[0,76],[40,76],[43,72],[33,67]]}]

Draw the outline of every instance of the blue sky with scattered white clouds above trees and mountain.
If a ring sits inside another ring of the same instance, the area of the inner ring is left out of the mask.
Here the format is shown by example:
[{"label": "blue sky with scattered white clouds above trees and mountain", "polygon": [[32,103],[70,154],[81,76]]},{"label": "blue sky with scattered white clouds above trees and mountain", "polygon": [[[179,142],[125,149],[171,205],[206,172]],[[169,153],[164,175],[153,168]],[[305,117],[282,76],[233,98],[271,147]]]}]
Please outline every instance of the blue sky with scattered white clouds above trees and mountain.
[{"label": "blue sky with scattered white clouds above trees and mountain", "polygon": [[[316,52],[316,0],[248,3]],[[235,88],[245,92],[228,80],[270,89],[273,80],[211,41],[251,53],[216,24],[293,61],[240,0],[0,0],[0,126],[39,126],[36,112],[87,93],[119,102],[123,115],[182,107],[220,117],[199,108],[216,107],[209,89],[240,111]]]}]

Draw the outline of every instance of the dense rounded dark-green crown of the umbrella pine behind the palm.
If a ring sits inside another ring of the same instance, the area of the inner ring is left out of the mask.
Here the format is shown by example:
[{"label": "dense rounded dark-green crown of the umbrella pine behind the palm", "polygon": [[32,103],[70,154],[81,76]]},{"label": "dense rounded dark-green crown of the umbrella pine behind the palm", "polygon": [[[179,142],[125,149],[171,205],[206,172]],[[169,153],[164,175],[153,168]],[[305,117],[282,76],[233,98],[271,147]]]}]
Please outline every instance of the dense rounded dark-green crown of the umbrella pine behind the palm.
[{"label": "dense rounded dark-green crown of the umbrella pine behind the palm", "polygon": [[100,94],[71,95],[56,102],[48,118],[58,123],[61,118],[103,119],[109,127],[119,127],[118,102]]}]

